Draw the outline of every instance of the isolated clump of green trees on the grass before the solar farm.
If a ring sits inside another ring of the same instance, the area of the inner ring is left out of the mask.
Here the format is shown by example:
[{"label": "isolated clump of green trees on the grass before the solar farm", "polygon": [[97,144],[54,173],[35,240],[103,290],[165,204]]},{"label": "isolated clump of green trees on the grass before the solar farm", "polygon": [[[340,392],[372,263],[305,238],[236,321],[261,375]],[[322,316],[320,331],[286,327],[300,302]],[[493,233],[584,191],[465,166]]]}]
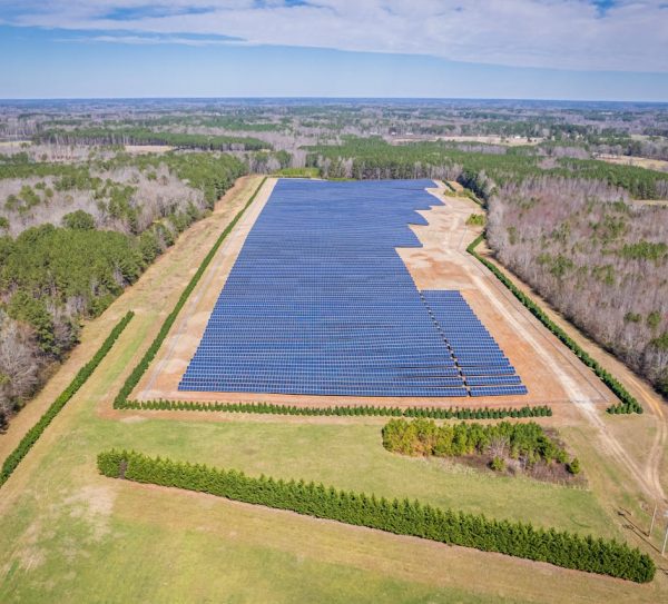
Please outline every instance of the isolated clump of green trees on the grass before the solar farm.
[{"label": "isolated clump of green trees on the grass before the solar farm", "polygon": [[461,457],[489,455],[499,459],[521,459],[524,466],[538,462],[567,463],[567,454],[534,422],[512,424],[443,424],[433,419],[391,419],[383,427],[383,446],[402,455]]}]

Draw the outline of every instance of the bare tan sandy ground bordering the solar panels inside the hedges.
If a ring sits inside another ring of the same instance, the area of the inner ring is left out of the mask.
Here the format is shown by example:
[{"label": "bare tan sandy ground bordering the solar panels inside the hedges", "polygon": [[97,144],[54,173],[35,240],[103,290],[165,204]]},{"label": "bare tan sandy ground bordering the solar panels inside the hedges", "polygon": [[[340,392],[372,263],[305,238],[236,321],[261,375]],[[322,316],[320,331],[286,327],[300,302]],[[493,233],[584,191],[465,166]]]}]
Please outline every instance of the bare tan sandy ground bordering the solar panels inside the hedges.
[{"label": "bare tan sandy ground bordering the solar panels inside the hedges", "polygon": [[[380,398],[347,396],[296,396],[250,393],[187,393],[179,392],[178,383],[195,354],[220,288],[244,244],[246,235],[271,191],[275,180],[267,180],[253,206],[220,247],[203,280],[197,286],[179,320],[163,345],[156,362],[136,388],[137,399],[156,398],[178,400],[267,402],[289,405],[396,405],[396,406],[456,406],[471,405],[471,398]],[[590,404],[606,404],[608,393],[580,363],[522,307],[507,290],[466,254],[465,248],[478,229],[465,221],[478,206],[469,199],[443,195],[444,188],[432,195],[445,201],[422,212],[429,226],[413,227],[423,248],[397,250],[420,289],[459,289],[481,318],[501,348],[508,354],[529,389],[524,396],[480,397],[475,405],[522,406],[561,405],[562,413],[571,413],[573,398]]]}]

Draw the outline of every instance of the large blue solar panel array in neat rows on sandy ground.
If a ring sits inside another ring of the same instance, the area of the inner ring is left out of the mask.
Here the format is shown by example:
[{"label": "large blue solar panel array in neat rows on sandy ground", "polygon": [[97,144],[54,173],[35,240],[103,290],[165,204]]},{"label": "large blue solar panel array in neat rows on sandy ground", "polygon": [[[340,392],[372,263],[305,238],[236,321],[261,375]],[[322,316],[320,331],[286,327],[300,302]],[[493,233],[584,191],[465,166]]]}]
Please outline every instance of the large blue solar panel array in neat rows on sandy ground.
[{"label": "large blue solar panel array in neat rows on sandy ground", "polygon": [[[179,389],[393,397],[525,392],[519,378],[507,380],[514,370],[461,295],[421,295],[395,250],[421,247],[407,225],[426,224],[415,210],[439,204],[424,191],[432,186],[279,180]],[[468,376],[475,376],[470,385]]]}]

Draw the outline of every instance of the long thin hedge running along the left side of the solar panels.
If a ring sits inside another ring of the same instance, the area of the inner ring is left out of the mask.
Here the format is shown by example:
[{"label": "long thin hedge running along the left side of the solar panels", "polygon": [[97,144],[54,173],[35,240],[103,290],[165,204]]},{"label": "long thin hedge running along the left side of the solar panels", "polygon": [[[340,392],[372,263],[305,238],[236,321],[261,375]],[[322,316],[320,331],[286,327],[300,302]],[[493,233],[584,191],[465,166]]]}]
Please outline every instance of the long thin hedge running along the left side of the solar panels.
[{"label": "long thin hedge running along the left side of the solar panels", "polygon": [[153,340],[150,347],[148,348],[148,350],[146,350],[146,354],[144,355],[144,357],[141,358],[139,364],[132,369],[132,373],[128,376],[125,384],[122,385],[122,387],[116,395],[116,398],[114,399],[114,408],[117,408],[117,409],[132,408],[131,406],[128,405],[127,397],[135,389],[135,386],[137,386],[137,384],[141,379],[141,376],[145,374],[146,369],[148,369],[150,362],[155,358],[160,346],[163,345],[163,341],[167,337],[169,329],[171,329],[171,326],[174,325],[176,317],[178,316],[181,308],[186,304],[188,297],[195,289],[195,286],[198,284],[199,279],[204,275],[204,271],[207,269],[208,265],[214,259],[216,251],[218,251],[218,248],[220,247],[220,245],[223,244],[225,238],[229,235],[229,231],[239,221],[239,218],[246,211],[248,206],[250,204],[253,204],[253,201],[255,200],[255,197],[259,192],[259,189],[265,184],[265,180],[266,180],[266,177],[262,179],[262,182],[257,186],[257,189],[255,189],[255,192],[250,196],[250,199],[248,199],[246,205],[237,212],[237,215],[233,218],[232,222],[229,222],[229,225],[227,225],[227,227],[220,234],[220,236],[218,237],[218,239],[216,240],[216,242],[214,244],[214,246],[212,247],[209,253],[206,255],[206,258],[199,265],[197,273],[195,273],[195,275],[193,276],[193,278],[186,286],[186,288],[183,290],[180,297],[178,298],[178,301],[176,303],[176,306],[174,307],[171,313],[169,313],[169,315],[165,319],[165,323],[163,323],[163,327],[160,327],[160,331],[158,333],[156,338]]}]

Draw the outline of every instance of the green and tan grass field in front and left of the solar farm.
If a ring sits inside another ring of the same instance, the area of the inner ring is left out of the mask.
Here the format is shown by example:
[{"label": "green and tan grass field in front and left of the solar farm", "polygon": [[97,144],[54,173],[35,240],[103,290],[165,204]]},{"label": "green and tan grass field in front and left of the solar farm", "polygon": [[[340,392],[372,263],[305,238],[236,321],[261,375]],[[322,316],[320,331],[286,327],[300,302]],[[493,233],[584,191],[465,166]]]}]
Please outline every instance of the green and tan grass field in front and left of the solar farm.
[{"label": "green and tan grass field in front and left of the solar farm", "polygon": [[[254,185],[239,186],[229,208]],[[636,543],[615,508],[633,504],[632,489],[586,427],[563,434],[583,462],[588,491],[392,455],[381,445],[377,418],[112,412],[120,384],[230,217],[220,210],[195,225],[84,331],[75,360],[92,355],[127,309],[137,313],[0,492],[0,602],[664,600],[662,573],[636,585],[99,476],[99,450],[136,448]],[[61,373],[73,369],[66,364]],[[42,396],[57,393],[49,383]]]}]

